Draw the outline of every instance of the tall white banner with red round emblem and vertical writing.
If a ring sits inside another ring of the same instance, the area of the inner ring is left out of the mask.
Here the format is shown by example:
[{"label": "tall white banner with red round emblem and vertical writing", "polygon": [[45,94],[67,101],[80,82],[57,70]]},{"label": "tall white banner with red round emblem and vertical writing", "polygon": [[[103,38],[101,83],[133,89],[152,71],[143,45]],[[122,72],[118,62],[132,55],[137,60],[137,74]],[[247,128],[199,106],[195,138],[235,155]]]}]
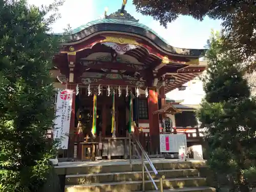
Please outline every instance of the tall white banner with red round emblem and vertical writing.
[{"label": "tall white banner with red round emblem and vertical writing", "polygon": [[53,138],[61,139],[58,146],[66,150],[69,143],[70,118],[72,111],[73,90],[58,89],[56,99],[56,118],[54,121]]}]

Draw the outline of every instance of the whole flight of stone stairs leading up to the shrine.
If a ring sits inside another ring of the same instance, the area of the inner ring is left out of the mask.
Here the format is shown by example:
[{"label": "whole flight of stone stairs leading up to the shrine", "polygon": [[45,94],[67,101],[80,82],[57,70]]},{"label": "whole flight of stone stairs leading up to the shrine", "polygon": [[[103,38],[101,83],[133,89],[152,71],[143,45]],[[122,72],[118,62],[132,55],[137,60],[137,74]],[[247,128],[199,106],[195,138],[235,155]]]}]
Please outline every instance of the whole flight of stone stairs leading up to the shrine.
[{"label": "whole flight of stone stairs leading up to the shrine", "polygon": [[[164,175],[164,191],[193,191],[214,192],[207,187],[206,178],[200,177],[199,169],[204,162],[174,162],[157,161],[153,164]],[[148,165],[148,164],[147,164]],[[148,170],[151,167],[148,165]],[[139,161],[129,164],[112,163],[109,165],[74,166],[65,168],[66,192],[124,192],[142,190],[142,173]],[[160,186],[159,176],[151,172],[157,186]],[[145,190],[156,191],[150,178],[145,172]],[[159,190],[160,191],[160,190]]]}]

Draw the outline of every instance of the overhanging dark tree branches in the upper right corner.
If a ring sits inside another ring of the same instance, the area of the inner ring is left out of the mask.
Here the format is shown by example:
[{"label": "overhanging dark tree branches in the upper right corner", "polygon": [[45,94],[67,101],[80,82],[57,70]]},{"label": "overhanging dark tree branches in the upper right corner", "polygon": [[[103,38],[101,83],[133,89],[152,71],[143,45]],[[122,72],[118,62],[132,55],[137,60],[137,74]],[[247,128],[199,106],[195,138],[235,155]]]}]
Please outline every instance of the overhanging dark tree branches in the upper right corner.
[{"label": "overhanging dark tree branches in the upper right corner", "polygon": [[[256,4],[253,0],[133,0],[138,12],[159,20],[164,27],[180,15],[203,20],[221,19],[227,45],[234,56],[256,68]],[[253,56],[253,57],[251,57]]]}]

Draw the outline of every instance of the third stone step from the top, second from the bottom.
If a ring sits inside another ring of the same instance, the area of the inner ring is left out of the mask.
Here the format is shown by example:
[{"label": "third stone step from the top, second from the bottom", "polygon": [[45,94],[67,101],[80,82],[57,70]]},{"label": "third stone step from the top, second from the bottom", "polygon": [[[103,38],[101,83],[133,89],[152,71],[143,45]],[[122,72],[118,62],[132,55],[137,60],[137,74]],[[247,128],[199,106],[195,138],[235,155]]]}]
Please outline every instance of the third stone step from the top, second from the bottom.
[{"label": "third stone step from the top, second from the bottom", "polygon": [[[155,180],[158,188],[159,180]],[[169,188],[198,187],[206,186],[205,178],[172,178],[164,179],[163,186]],[[142,181],[122,181],[111,183],[93,183],[82,185],[66,185],[65,192],[120,192],[120,191],[139,191],[142,189]],[[145,190],[154,190],[152,181],[145,181]],[[208,191],[207,191],[208,192]]]}]

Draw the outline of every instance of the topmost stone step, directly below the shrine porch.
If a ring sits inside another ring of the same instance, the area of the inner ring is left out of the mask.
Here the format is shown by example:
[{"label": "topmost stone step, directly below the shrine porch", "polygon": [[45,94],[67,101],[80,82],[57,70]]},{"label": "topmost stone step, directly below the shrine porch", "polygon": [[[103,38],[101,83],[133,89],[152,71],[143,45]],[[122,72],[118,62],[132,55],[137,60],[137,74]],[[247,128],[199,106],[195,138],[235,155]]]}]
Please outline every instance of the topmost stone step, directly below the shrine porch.
[{"label": "topmost stone step, directly below the shrine porch", "polygon": [[[145,162],[148,170],[152,170],[150,165]],[[205,162],[161,162],[153,161],[154,166],[157,170],[166,170],[166,169],[187,169],[187,168],[198,168],[204,167]],[[141,171],[141,162],[129,163],[117,163],[117,164],[104,164],[97,165],[95,162],[94,165],[86,165],[83,163],[75,164],[75,166],[56,166],[55,171],[58,175],[79,175],[79,174],[95,174],[95,173],[113,173],[113,172],[139,172]]]}]

